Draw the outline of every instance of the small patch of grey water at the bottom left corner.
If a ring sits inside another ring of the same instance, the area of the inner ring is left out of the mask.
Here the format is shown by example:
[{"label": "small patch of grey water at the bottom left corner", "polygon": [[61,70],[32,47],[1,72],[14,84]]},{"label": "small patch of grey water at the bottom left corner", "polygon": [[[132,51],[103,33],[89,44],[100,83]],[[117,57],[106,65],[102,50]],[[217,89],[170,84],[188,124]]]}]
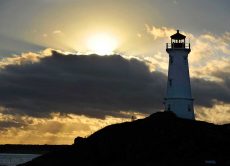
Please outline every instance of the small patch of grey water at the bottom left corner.
[{"label": "small patch of grey water at the bottom left corner", "polygon": [[0,153],[0,166],[16,166],[30,161],[40,155],[38,154],[5,154]]}]

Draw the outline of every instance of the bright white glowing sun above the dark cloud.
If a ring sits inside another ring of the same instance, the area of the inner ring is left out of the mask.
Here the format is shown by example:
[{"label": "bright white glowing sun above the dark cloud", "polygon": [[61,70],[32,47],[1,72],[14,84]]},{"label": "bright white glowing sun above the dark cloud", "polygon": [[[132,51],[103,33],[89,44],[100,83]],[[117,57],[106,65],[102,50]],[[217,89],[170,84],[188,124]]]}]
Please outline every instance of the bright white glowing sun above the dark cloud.
[{"label": "bright white glowing sun above the dark cloud", "polygon": [[92,53],[110,55],[117,48],[117,40],[108,34],[97,34],[89,38],[87,45]]}]

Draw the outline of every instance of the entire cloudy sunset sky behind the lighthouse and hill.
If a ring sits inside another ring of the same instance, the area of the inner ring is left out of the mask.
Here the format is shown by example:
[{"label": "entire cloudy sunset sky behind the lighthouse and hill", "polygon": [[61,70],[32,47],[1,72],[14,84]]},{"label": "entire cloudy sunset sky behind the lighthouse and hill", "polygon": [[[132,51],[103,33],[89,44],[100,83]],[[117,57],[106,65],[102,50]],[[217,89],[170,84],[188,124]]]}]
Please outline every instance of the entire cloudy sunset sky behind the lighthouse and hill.
[{"label": "entire cloudy sunset sky behind the lighthouse and hill", "polygon": [[72,144],[106,125],[162,111],[165,47],[177,29],[192,47],[196,119],[230,123],[229,6],[0,0],[0,144]]}]

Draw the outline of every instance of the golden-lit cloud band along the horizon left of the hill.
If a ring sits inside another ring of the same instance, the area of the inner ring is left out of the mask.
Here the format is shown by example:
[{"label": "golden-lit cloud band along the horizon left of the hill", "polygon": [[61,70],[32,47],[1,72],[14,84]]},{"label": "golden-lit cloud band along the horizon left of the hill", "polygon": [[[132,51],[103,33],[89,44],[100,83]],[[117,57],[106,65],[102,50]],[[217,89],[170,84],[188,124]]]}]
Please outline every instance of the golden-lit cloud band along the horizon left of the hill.
[{"label": "golden-lit cloud band along the horizon left of the hill", "polygon": [[0,121],[1,144],[72,144],[77,136],[85,137],[109,124],[130,121],[127,118],[106,116],[97,119],[72,114],[52,114],[49,118],[18,116],[16,120],[24,125]]}]

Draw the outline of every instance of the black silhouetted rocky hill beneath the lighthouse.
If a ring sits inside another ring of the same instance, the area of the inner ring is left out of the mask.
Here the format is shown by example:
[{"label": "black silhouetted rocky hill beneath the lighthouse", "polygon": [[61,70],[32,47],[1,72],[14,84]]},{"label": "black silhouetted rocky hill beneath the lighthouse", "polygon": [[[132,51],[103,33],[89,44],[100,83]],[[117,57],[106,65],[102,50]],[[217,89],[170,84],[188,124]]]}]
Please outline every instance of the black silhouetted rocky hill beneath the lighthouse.
[{"label": "black silhouetted rocky hill beneath the lighthouse", "polygon": [[[78,143],[79,140],[79,143]],[[48,153],[24,166],[227,165],[229,125],[177,118],[171,112],[107,126],[76,146]]]}]

